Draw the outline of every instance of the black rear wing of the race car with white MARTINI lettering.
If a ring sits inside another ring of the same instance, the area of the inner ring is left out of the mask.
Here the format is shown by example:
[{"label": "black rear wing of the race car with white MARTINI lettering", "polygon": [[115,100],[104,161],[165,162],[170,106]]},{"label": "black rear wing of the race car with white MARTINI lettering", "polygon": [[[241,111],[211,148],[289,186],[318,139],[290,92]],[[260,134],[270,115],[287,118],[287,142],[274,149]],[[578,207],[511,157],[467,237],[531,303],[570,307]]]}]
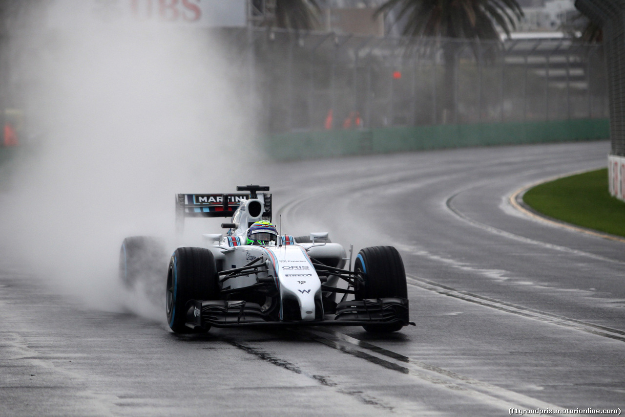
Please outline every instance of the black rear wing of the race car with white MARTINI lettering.
[{"label": "black rear wing of the race car with white MARTINI lettering", "polygon": [[176,230],[182,232],[186,217],[232,217],[239,205],[250,198],[258,198],[263,203],[263,218],[271,221],[271,194],[269,187],[260,185],[237,186],[236,194],[176,194]]}]

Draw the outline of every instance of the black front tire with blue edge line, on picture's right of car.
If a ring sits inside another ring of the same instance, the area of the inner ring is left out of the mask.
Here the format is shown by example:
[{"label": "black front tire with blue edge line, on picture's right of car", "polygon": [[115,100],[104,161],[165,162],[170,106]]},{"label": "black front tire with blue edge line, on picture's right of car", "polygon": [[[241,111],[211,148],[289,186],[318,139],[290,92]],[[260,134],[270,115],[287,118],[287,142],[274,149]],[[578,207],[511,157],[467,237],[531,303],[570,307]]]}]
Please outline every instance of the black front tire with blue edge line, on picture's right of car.
[{"label": "black front tire with blue edge line, on picture's right of car", "polygon": [[[356,286],[356,299],[407,298],[406,271],[401,255],[392,246],[366,247],[358,252],[354,271],[364,279]],[[367,332],[396,332],[404,327],[402,322],[389,324],[367,324]]]}]

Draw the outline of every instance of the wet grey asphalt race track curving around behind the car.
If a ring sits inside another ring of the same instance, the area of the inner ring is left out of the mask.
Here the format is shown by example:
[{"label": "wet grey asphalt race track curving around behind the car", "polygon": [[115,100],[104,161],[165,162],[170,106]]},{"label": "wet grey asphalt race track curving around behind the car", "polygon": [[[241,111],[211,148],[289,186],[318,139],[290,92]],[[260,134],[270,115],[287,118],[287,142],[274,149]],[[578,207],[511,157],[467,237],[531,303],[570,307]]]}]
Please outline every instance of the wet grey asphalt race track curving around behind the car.
[{"label": "wet grey asphalt race track curving around behind the car", "polygon": [[327,230],[354,255],[396,245],[416,326],[386,337],[177,336],[164,319],[73,306],[0,264],[0,416],[623,409],[625,244],[507,202],[542,178],[604,167],[607,152],[607,142],[448,150],[283,163],[257,178],[272,187],[282,233]]}]

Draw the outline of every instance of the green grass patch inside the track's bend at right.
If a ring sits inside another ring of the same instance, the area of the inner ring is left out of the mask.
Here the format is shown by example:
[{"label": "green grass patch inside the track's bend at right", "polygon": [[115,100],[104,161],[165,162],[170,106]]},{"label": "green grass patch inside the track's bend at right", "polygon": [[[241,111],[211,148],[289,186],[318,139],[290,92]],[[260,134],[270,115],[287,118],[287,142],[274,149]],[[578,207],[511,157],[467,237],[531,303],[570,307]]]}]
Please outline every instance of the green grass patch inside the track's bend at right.
[{"label": "green grass patch inside the track's bend at right", "polygon": [[607,168],[537,185],[523,201],[554,219],[625,236],[625,202],[610,195]]}]

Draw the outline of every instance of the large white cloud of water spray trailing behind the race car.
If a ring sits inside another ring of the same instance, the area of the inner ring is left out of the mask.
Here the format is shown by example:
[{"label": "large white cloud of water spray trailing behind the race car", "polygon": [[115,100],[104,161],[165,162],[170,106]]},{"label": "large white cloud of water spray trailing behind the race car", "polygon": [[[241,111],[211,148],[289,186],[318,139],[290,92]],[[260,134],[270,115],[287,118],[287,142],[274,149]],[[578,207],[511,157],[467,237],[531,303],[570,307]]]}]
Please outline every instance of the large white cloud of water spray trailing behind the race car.
[{"label": "large white cloud of water spray trailing behind the race car", "polygon": [[227,192],[252,175],[249,97],[205,30],[35,24],[14,36],[29,51],[22,93],[37,135],[4,196],[5,239],[42,279],[113,308],[125,236],[171,235],[174,193]]}]

